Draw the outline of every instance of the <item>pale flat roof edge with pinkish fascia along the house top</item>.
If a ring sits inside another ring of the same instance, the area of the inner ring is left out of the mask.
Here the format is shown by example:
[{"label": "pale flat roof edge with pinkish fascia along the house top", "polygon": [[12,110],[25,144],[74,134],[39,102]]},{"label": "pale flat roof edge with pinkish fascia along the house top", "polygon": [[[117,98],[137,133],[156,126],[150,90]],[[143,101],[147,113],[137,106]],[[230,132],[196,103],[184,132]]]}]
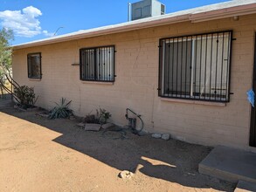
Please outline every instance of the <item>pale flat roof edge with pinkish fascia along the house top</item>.
[{"label": "pale flat roof edge with pinkish fascia along the house top", "polygon": [[164,24],[175,24],[190,21],[192,23],[214,20],[225,17],[235,17],[256,13],[256,0],[232,0],[225,3],[210,4],[189,10],[181,10],[162,16],[147,17],[121,24],[107,25],[89,30],[80,30],[65,35],[44,38],[28,43],[13,45],[14,50],[49,45],[80,38],[92,38],[123,31],[133,31]]}]

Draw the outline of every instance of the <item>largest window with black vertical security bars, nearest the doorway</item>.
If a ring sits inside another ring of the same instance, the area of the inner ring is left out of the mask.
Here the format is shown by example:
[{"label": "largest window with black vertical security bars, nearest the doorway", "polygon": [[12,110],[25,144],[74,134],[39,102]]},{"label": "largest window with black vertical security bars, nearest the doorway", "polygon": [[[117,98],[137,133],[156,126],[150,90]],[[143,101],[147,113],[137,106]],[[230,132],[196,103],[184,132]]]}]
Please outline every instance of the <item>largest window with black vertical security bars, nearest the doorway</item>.
[{"label": "largest window with black vertical security bars, nearest the doorway", "polygon": [[159,96],[228,102],[232,31],[160,39]]}]

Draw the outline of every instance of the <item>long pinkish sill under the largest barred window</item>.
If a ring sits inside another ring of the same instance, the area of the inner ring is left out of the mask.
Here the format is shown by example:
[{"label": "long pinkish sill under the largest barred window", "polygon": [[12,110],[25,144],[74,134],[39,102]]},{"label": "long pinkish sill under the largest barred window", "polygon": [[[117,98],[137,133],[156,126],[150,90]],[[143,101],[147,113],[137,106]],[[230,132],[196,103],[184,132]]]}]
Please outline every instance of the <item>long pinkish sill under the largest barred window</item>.
[{"label": "long pinkish sill under the largest barred window", "polygon": [[210,101],[204,101],[204,100],[187,100],[187,99],[171,99],[171,98],[161,98],[161,100],[167,101],[167,102],[196,104],[196,105],[203,105],[203,106],[226,106],[225,103],[210,102]]}]

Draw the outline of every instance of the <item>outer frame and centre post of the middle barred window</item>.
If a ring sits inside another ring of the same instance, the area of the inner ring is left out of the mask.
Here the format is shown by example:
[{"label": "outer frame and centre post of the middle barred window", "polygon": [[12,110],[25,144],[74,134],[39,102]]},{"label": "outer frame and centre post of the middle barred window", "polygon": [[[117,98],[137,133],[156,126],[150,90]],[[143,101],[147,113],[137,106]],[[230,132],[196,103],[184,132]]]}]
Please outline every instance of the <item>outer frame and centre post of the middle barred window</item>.
[{"label": "outer frame and centre post of the middle barred window", "polygon": [[[97,55],[96,55],[96,52],[99,51],[100,49],[102,48],[111,48],[113,50],[113,64],[111,64],[112,66],[112,75],[113,75],[113,78],[111,80],[104,80],[104,79],[97,79]],[[82,67],[83,67],[83,64],[82,64],[82,52],[83,51],[86,51],[86,50],[93,50],[93,73],[94,73],[94,78],[93,79],[84,79],[83,78],[83,75],[82,75]],[[104,45],[104,46],[94,46],[94,47],[86,47],[86,48],[81,48],[80,49],[80,80],[81,81],[89,81],[89,82],[110,82],[110,83],[113,83],[114,80],[115,80],[115,69],[114,69],[114,66],[115,66],[115,46],[114,45]]]}]

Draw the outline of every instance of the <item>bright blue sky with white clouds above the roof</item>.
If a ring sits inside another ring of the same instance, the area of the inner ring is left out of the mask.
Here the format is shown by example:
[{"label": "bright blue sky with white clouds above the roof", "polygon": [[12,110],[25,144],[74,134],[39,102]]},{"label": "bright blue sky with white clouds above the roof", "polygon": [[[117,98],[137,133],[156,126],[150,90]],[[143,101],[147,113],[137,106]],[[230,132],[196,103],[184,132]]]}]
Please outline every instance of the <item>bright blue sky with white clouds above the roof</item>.
[{"label": "bright blue sky with white clouds above the roof", "polygon": [[[0,27],[14,31],[12,45],[127,22],[128,2],[138,0],[0,0]],[[160,0],[166,13],[228,0]]]}]

